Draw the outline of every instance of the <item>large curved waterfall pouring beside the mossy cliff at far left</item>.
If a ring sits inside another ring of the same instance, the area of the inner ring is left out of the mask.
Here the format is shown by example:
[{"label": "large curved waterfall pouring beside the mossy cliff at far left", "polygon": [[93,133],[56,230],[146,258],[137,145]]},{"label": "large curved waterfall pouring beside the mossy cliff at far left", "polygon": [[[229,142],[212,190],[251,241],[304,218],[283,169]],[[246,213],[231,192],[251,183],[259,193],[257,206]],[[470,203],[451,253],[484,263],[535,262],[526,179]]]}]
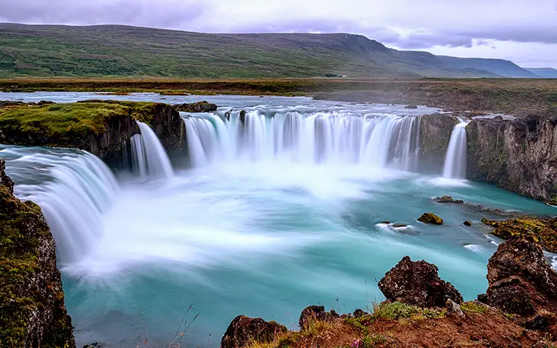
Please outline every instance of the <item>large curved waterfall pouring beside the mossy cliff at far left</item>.
[{"label": "large curved waterfall pouring beside the mossy cliff at far left", "polygon": [[8,147],[0,151],[15,194],[42,209],[62,264],[84,258],[102,237],[101,216],[120,187],[110,169],[85,151]]}]

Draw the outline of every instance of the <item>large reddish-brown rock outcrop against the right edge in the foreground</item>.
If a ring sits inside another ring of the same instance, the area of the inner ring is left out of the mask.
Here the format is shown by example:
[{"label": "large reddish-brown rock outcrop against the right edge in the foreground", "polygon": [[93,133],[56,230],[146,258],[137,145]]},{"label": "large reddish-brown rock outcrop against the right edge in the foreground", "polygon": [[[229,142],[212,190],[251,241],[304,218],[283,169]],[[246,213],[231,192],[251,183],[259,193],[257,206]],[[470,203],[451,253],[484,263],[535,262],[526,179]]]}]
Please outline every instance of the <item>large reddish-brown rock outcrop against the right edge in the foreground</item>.
[{"label": "large reddish-brown rock outcrop against the right edge in the foreground", "polygon": [[499,245],[487,264],[487,303],[505,313],[557,313],[557,274],[546,263],[542,248],[526,239]]}]

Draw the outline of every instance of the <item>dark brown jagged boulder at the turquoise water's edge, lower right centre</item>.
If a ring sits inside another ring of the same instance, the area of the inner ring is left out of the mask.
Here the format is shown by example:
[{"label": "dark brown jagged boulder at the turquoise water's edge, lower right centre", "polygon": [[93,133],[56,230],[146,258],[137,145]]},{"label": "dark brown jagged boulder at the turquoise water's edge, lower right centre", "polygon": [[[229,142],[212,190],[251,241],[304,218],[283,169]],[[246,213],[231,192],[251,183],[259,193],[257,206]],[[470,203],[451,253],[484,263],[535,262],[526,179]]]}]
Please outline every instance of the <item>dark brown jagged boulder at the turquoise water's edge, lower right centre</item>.
[{"label": "dark brown jagged boulder at the turquoise water's edge, lower right centre", "polygon": [[462,303],[462,295],[453,285],[439,278],[437,266],[425,261],[413,262],[405,256],[379,280],[379,290],[387,301],[412,306],[445,307],[448,300]]}]

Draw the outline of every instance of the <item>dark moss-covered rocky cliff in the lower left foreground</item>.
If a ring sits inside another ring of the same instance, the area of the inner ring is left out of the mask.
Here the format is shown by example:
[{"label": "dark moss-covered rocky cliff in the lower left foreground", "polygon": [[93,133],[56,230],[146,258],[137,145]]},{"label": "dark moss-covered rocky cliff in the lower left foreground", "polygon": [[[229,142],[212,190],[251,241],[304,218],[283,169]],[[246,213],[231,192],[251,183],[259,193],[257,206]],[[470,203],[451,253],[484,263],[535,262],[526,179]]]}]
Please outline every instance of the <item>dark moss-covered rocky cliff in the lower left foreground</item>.
[{"label": "dark moss-covered rocky cliff in the lower left foreground", "polygon": [[40,207],[13,196],[0,160],[0,347],[74,348],[56,246]]}]

